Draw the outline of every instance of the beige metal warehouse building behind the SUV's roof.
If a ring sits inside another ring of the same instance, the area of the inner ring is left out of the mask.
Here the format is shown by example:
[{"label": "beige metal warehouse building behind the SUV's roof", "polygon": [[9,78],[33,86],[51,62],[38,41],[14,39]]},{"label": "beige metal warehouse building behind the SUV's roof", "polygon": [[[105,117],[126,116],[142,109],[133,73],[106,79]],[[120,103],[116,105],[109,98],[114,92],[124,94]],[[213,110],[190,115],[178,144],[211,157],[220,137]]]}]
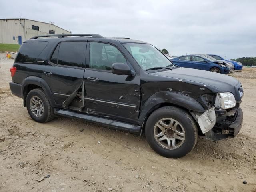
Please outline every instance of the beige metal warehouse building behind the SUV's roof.
[{"label": "beige metal warehouse building behind the SUV's roof", "polygon": [[52,23],[30,19],[0,19],[0,43],[21,45],[33,36],[69,33]]}]

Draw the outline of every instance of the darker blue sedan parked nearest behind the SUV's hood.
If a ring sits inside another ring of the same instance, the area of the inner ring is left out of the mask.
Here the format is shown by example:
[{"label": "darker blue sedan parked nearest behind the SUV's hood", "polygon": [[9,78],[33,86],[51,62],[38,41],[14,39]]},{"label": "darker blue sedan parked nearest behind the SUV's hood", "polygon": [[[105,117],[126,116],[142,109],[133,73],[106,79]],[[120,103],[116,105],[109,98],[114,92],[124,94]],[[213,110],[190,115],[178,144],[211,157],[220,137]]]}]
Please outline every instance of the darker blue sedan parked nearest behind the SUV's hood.
[{"label": "darker blue sedan parked nearest behind the SUV's hood", "polygon": [[206,70],[216,73],[228,74],[229,68],[223,64],[201,55],[185,55],[171,59],[171,62],[179,67]]}]

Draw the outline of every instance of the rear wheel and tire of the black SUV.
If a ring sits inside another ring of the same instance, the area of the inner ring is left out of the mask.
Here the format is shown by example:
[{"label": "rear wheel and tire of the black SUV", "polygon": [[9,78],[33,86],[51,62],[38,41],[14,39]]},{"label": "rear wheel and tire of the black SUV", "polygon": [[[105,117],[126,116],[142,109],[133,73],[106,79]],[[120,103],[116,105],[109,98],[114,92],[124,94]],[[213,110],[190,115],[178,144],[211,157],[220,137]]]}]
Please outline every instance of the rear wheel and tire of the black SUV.
[{"label": "rear wheel and tire of the black SUV", "polygon": [[33,89],[28,93],[26,106],[28,114],[36,122],[45,123],[54,118],[54,108],[42,89]]}]

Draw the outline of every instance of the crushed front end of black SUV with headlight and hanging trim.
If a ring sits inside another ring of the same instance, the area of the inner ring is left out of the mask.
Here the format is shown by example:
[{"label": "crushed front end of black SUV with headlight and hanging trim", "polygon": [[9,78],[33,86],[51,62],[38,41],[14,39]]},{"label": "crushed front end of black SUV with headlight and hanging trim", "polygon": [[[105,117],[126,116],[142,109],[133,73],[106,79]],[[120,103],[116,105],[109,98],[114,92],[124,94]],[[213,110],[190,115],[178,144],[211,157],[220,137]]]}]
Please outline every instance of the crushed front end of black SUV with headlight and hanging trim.
[{"label": "crushed front end of black SUV with headlight and hanging trim", "polygon": [[[235,94],[220,92],[204,98],[209,108],[203,114],[195,114],[195,117],[206,139],[215,141],[233,138],[240,132],[243,123],[243,111],[240,104],[244,92],[240,83],[235,90]],[[213,109],[215,116],[212,115]],[[204,124],[202,124],[203,121]]]}]

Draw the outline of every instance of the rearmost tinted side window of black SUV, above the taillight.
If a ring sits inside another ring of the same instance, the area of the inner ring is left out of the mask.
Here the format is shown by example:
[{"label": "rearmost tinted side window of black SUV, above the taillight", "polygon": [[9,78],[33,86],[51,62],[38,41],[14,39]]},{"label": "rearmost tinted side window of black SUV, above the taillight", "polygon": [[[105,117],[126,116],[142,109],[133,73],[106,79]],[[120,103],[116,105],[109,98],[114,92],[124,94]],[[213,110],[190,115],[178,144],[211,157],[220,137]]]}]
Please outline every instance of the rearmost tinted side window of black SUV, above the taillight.
[{"label": "rearmost tinted side window of black SUV, above the taillight", "polygon": [[15,62],[35,62],[48,42],[26,42],[20,47]]}]

